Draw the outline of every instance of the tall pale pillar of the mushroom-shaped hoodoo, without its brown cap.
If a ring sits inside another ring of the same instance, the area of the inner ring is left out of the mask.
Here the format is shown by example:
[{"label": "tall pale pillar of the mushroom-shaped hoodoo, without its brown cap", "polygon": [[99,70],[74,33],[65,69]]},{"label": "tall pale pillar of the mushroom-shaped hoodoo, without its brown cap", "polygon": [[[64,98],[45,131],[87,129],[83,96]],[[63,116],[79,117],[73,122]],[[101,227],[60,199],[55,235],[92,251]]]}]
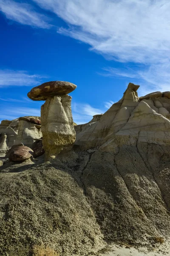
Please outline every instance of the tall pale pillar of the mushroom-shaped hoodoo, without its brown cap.
[{"label": "tall pale pillar of the mushroom-shaped hoodoo, without its brown cap", "polygon": [[46,157],[55,157],[76,138],[71,113],[71,96],[48,98],[41,107],[42,144]]}]

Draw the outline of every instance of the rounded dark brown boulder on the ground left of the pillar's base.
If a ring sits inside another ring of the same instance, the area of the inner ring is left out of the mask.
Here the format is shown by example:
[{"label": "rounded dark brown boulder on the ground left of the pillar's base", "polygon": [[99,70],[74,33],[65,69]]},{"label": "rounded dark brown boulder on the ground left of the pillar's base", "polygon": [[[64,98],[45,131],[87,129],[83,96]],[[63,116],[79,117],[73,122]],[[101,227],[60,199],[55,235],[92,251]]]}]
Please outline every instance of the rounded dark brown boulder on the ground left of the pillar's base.
[{"label": "rounded dark brown boulder on the ground left of the pillar's base", "polygon": [[9,160],[13,162],[23,162],[29,159],[33,154],[33,150],[26,146],[17,146],[9,154]]}]

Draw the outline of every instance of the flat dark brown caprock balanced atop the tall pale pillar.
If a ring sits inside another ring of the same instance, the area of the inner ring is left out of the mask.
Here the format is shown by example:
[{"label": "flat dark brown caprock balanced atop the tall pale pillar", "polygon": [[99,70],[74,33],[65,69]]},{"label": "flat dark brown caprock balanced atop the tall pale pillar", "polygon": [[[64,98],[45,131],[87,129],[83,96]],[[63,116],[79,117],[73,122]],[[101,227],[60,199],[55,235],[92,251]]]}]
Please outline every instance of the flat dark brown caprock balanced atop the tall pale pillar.
[{"label": "flat dark brown caprock balanced atop the tall pale pillar", "polygon": [[32,100],[46,100],[48,97],[71,93],[76,87],[65,81],[51,81],[32,88],[27,96]]}]

